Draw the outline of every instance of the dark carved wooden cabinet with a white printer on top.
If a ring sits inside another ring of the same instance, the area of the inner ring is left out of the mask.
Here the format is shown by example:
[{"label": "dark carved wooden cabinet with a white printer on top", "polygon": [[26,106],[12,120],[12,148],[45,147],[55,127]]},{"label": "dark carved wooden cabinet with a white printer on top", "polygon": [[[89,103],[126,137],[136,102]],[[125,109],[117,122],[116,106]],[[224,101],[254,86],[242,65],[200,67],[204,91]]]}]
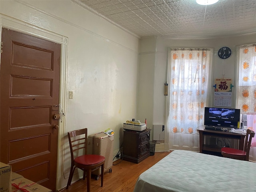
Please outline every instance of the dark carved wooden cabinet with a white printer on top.
[{"label": "dark carved wooden cabinet with a white printer on top", "polygon": [[149,140],[151,129],[140,132],[124,130],[123,158],[126,161],[139,163],[150,156]]}]

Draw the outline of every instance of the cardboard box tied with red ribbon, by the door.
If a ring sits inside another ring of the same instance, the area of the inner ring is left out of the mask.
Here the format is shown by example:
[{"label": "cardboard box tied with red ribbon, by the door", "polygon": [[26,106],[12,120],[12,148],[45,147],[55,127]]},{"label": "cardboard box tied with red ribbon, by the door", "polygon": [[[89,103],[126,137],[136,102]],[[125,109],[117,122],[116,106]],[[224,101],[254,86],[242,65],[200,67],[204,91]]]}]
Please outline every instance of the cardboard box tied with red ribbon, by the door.
[{"label": "cardboard box tied with red ribbon, by the door", "polygon": [[[16,186],[18,186],[18,188],[24,188],[29,192],[52,192],[52,190],[37,184],[33,181],[30,181],[24,177],[21,178],[16,178],[14,180],[12,180],[12,184],[16,184]],[[18,188],[12,186],[12,191],[17,190]]]}]

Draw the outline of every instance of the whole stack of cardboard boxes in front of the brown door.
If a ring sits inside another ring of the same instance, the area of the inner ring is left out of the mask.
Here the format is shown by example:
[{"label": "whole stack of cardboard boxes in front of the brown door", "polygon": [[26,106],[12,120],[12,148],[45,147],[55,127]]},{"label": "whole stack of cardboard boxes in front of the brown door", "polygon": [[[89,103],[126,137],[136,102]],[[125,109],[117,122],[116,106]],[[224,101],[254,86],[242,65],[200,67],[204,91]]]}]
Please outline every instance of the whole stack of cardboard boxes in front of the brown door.
[{"label": "whole stack of cardboard boxes in front of the brown door", "polygon": [[12,172],[12,166],[0,162],[0,192],[20,192],[26,189],[29,192],[52,192],[20,174]]}]

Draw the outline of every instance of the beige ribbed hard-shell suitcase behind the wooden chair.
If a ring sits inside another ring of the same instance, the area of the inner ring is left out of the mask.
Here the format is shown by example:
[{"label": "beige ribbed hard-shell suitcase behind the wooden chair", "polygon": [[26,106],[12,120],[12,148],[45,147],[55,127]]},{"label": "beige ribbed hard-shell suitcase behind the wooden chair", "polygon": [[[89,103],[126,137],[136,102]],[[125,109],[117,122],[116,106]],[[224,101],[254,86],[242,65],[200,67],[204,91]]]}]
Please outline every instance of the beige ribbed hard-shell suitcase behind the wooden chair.
[{"label": "beige ribbed hard-shell suitcase behind the wooden chair", "polygon": [[[113,153],[114,153],[114,135],[108,136],[104,132],[91,134],[88,136],[88,154],[102,155],[105,157],[104,172],[112,172]],[[99,179],[101,174],[100,168],[92,172]]]}]

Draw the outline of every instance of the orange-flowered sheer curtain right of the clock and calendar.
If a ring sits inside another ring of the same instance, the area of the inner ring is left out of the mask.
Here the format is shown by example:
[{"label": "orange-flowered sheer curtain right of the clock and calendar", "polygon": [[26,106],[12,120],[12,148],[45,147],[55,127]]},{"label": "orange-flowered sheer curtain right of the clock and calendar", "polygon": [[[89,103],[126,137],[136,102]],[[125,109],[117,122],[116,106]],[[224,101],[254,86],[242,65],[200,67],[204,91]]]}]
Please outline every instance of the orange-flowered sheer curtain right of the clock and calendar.
[{"label": "orange-flowered sheer curtain right of the clock and calendar", "polygon": [[[238,88],[236,107],[244,116],[245,128],[256,132],[256,44],[238,46]],[[256,138],[250,160],[256,161]]]}]

